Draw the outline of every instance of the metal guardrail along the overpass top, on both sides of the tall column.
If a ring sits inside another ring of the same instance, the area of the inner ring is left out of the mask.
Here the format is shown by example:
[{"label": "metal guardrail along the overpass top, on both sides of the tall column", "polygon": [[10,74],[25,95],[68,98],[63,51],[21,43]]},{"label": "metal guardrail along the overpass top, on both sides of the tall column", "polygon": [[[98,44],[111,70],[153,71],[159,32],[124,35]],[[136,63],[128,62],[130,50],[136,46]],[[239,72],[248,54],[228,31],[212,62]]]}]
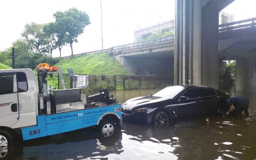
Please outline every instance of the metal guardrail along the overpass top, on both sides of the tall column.
[{"label": "metal guardrail along the overpass top, on both sides of the tall column", "polygon": [[[239,20],[236,22],[230,22],[227,24],[220,24],[219,25],[219,34],[223,34],[227,31],[238,30],[238,29],[248,29],[248,28],[256,28],[256,17],[252,19],[244,19]],[[84,52],[81,54],[74,54],[73,57],[76,56],[83,56],[87,54],[95,54],[101,52],[116,52],[119,53],[120,51],[134,51],[136,49],[144,49],[147,47],[157,48],[157,47],[166,47],[174,45],[174,36],[164,36],[163,38],[157,38],[154,40],[148,40],[143,42],[134,42],[131,44],[124,44],[118,45],[115,47],[111,47],[109,49],[103,49],[99,51],[92,51],[92,52]],[[72,56],[65,56],[61,57],[61,59],[71,58]]]}]

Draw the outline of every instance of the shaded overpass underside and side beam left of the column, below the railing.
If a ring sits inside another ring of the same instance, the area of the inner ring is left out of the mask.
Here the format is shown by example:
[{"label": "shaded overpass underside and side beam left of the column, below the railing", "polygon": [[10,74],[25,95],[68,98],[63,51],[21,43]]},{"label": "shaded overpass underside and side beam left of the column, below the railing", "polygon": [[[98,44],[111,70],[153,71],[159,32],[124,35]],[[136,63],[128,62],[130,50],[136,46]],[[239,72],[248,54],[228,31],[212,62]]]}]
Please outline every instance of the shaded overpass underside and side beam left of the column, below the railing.
[{"label": "shaded overpass underside and side beam left of the column, below the railing", "polygon": [[[155,75],[161,84],[173,84],[173,47],[115,55],[122,66],[136,75]],[[159,84],[159,85],[161,85]]]}]

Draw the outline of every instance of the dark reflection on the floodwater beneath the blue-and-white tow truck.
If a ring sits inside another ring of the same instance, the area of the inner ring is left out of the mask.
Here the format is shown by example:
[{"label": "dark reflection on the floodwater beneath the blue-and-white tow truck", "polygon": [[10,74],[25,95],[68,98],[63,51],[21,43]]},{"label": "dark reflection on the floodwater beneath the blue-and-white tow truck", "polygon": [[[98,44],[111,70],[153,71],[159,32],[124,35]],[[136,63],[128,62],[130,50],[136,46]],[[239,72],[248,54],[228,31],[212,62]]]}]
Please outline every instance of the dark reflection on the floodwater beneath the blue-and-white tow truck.
[{"label": "dark reflection on the floodwater beneath the blue-and-white tow truck", "polygon": [[5,159],[105,159],[118,157],[122,150],[122,133],[111,138],[97,136],[95,129],[82,129],[48,138],[26,141],[15,147]]}]

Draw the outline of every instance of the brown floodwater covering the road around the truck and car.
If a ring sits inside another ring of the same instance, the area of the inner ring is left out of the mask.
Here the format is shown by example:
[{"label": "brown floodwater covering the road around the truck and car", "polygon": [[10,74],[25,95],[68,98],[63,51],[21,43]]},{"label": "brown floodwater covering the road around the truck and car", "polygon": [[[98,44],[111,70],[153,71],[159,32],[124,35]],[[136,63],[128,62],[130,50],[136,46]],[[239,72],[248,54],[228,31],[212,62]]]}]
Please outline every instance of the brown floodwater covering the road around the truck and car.
[{"label": "brown floodwater covering the road around the truck and car", "polygon": [[[155,90],[111,92],[120,102]],[[256,159],[256,93],[250,116],[205,117],[172,122],[168,128],[124,122],[115,137],[104,140],[95,129],[26,141],[12,159]]]}]

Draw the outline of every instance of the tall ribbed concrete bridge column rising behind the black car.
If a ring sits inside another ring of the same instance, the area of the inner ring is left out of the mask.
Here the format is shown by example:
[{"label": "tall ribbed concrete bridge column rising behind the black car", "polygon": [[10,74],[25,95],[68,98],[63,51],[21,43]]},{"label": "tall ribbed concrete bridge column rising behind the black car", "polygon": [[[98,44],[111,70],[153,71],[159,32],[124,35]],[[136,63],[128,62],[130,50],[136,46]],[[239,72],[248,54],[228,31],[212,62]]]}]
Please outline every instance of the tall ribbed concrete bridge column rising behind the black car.
[{"label": "tall ribbed concrete bridge column rising behind the black car", "polygon": [[175,84],[218,89],[218,13],[232,1],[175,0]]}]

